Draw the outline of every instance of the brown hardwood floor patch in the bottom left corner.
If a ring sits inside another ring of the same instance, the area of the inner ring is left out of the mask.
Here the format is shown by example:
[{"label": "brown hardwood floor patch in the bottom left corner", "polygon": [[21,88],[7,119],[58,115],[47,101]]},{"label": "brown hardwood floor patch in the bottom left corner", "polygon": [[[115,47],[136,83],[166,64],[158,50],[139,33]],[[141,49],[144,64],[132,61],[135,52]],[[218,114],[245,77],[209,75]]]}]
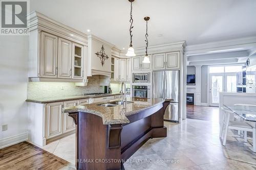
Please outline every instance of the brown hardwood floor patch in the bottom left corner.
[{"label": "brown hardwood floor patch in the bottom left corner", "polygon": [[0,169],[71,169],[71,163],[28,142],[0,150]]}]

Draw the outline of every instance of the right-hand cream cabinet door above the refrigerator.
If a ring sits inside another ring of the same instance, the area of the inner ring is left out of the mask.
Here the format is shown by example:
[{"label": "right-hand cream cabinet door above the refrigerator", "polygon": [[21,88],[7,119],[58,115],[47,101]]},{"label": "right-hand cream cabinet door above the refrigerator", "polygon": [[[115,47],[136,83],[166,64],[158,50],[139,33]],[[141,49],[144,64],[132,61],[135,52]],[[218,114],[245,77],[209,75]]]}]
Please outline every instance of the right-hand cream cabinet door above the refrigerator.
[{"label": "right-hand cream cabinet door above the refrigerator", "polygon": [[180,53],[166,53],[166,69],[180,68]]}]

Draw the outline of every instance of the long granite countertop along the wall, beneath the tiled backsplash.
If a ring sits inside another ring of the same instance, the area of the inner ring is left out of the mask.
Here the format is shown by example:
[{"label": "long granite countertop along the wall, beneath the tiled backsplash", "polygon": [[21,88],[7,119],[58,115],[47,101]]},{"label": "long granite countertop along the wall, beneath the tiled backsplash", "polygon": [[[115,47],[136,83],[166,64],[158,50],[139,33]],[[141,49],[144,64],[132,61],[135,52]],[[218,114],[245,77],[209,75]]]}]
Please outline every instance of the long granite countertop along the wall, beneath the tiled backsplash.
[{"label": "long granite countertop along the wall, beneath the tiled backsplash", "polygon": [[37,98],[37,99],[27,99],[26,102],[33,102],[33,103],[54,103],[54,102],[64,102],[64,101],[72,101],[72,100],[80,100],[80,99],[89,99],[89,98],[101,98],[104,96],[112,96],[112,95],[120,95],[120,93],[114,93],[114,94],[102,94],[102,95],[96,95],[96,96],[90,96],[90,95],[71,95],[71,96],[63,96],[59,98]]}]

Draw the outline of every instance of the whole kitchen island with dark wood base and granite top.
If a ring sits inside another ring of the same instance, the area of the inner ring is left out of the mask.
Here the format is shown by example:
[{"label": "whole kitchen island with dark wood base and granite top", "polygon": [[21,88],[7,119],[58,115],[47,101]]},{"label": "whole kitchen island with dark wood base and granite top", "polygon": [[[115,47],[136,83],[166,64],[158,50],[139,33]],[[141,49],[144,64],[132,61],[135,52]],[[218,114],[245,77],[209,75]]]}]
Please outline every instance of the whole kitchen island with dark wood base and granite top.
[{"label": "whole kitchen island with dark wood base and granite top", "polygon": [[166,137],[163,99],[128,98],[64,108],[76,125],[77,169],[121,169],[148,139]]}]

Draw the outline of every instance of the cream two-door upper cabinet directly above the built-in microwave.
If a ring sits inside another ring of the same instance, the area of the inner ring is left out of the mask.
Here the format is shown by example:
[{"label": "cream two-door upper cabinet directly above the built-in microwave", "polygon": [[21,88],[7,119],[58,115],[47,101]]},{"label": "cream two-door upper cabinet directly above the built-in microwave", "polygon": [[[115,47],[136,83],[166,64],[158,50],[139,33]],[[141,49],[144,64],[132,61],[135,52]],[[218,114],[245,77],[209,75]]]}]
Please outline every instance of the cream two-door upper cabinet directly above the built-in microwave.
[{"label": "cream two-door upper cabinet directly above the built-in microwave", "polygon": [[[136,56],[132,57],[133,60],[133,71],[150,71],[151,63],[143,63],[143,59],[145,56]],[[151,60],[151,55],[148,55]]]}]

